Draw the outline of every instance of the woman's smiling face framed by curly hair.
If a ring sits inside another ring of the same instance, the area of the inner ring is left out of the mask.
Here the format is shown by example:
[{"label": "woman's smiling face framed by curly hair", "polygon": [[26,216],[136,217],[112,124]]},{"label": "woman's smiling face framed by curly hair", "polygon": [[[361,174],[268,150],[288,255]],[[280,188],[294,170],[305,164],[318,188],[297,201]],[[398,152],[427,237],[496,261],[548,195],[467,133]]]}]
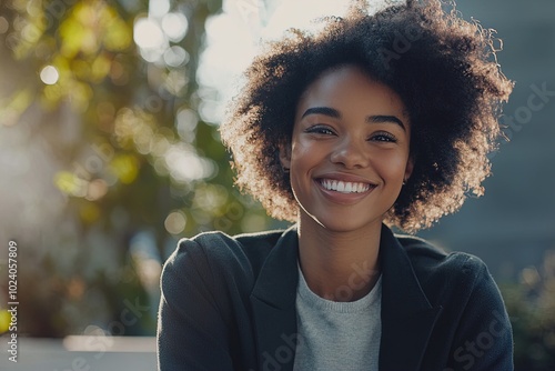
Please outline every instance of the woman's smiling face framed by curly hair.
[{"label": "woman's smiling face framed by curly hair", "polygon": [[301,97],[290,169],[301,223],[375,230],[411,176],[410,122],[401,98],[357,67],[330,70]]}]

